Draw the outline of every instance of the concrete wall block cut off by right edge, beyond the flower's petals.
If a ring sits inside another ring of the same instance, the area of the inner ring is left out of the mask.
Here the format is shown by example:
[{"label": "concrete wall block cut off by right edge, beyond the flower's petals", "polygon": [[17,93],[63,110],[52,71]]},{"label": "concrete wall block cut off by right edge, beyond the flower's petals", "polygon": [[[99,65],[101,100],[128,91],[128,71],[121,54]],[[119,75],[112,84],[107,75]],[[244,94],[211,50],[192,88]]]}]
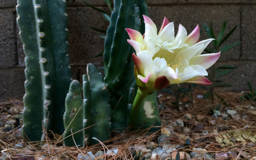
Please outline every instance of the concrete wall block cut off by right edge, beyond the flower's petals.
[{"label": "concrete wall block cut off by right edge, beyond the flower's petals", "polygon": [[242,56],[244,60],[256,60],[256,6],[242,7]]}]

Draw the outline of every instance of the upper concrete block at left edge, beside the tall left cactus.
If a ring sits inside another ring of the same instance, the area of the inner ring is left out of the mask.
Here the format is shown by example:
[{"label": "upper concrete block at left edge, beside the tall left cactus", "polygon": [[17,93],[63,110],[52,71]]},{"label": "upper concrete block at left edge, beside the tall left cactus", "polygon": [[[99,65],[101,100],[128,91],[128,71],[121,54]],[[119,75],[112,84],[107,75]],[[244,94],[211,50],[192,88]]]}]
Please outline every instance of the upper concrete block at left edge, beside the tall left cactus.
[{"label": "upper concrete block at left edge, beside the tall left cactus", "polygon": [[18,64],[15,9],[0,10],[0,68]]}]

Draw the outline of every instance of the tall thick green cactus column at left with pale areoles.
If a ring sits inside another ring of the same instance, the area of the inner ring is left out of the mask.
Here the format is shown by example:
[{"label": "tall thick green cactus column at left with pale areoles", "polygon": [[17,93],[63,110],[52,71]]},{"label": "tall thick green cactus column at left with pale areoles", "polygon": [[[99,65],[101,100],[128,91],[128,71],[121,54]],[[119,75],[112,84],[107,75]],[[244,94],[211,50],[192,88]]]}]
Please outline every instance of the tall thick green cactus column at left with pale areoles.
[{"label": "tall thick green cactus column at left with pale areoles", "polygon": [[40,140],[45,130],[64,132],[65,96],[71,82],[67,4],[64,0],[18,0],[17,23],[25,52],[23,138]]}]

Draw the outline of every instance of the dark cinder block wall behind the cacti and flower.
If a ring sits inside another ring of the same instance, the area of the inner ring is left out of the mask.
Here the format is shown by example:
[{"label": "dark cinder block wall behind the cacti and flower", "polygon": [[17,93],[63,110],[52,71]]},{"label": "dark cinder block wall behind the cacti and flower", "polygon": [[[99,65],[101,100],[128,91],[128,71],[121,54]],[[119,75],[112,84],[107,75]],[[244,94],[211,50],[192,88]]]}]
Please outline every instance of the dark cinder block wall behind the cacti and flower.
[{"label": "dark cinder block wall behind the cacti and flower", "polygon": [[[104,35],[92,27],[107,29],[108,22],[101,13],[87,7],[84,0],[67,0],[69,57],[73,79],[81,80],[86,65],[102,66],[102,57],[94,58],[104,49]],[[88,3],[108,11],[103,0]],[[238,68],[222,79],[233,84],[231,91],[247,89],[247,81],[256,87],[256,0],[148,0],[149,17],[161,27],[164,16],[174,21],[177,29],[182,24],[188,34],[199,24],[213,22],[215,33],[227,21],[227,31],[238,26],[228,43],[242,44],[220,56],[217,65],[231,64]],[[24,90],[24,52],[16,24],[16,0],[0,0],[0,100],[22,98]],[[199,40],[208,39],[204,29]]]}]

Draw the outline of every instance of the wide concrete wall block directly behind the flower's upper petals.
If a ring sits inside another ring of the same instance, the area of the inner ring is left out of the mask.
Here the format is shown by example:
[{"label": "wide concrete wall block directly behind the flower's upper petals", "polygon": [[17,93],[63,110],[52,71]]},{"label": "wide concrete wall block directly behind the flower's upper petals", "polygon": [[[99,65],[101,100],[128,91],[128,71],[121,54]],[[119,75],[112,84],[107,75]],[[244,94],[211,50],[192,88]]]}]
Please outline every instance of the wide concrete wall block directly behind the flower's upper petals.
[{"label": "wide concrete wall block directly behind the flower's upper petals", "polygon": [[[174,21],[175,35],[178,31],[179,24],[182,24],[187,29],[188,34],[199,24],[200,29],[202,29],[199,40],[209,39],[204,30],[203,23],[210,26],[212,21],[214,33],[218,36],[221,26],[226,20],[227,27],[224,35],[238,25],[233,35],[230,36],[226,42],[232,44],[240,41],[240,9],[241,7],[236,5],[176,5],[150,6],[148,12],[149,17],[155,22],[158,31],[161,28],[164,16],[166,16],[170,22]],[[212,44],[209,44],[209,47],[212,47]],[[220,61],[238,60],[239,57],[240,45],[222,54]]]}]

